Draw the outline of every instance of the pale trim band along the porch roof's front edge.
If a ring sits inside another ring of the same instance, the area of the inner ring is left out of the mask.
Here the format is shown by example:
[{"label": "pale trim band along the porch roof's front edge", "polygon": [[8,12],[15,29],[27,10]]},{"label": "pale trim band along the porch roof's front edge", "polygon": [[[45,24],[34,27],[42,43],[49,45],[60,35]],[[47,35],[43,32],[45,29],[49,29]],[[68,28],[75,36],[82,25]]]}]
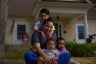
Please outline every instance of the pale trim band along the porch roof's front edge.
[{"label": "pale trim band along the porch roof's front edge", "polygon": [[[58,5],[57,5],[58,4]],[[47,8],[51,13],[76,13],[82,14],[85,13],[87,9],[89,9],[88,4],[70,4],[63,2],[37,2],[34,7],[33,16],[37,16],[38,12],[42,8]]]}]

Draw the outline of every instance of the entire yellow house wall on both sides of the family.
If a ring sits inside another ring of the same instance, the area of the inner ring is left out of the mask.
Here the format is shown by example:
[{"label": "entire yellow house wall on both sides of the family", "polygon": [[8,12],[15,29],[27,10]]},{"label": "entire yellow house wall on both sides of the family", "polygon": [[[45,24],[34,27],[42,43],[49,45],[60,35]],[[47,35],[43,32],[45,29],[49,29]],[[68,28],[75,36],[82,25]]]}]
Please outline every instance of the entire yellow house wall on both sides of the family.
[{"label": "entire yellow house wall on both sides of the family", "polygon": [[[33,24],[34,24],[34,19],[33,17],[15,17],[15,19],[21,19],[24,20],[26,19],[27,22],[30,24],[30,37],[33,32]],[[76,27],[75,24],[84,24],[83,19],[78,19],[78,18],[60,18],[58,21],[56,20],[55,17],[53,17],[54,22],[62,22],[63,23],[63,31],[66,31],[64,34],[64,38],[66,41],[76,41]],[[13,17],[9,17],[7,21],[7,28],[6,28],[6,43],[7,44],[13,44],[13,33],[10,33],[11,26],[13,23]],[[88,28],[89,28],[89,34],[96,34],[96,19],[88,19]],[[92,42],[96,42],[96,37],[95,39],[92,40]]]}]

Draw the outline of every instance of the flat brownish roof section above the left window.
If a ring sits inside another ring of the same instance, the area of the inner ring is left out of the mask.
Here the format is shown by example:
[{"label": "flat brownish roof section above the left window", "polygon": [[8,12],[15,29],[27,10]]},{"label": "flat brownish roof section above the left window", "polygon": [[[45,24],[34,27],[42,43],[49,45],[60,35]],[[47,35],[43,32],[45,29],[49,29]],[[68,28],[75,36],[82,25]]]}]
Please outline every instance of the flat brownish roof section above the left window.
[{"label": "flat brownish roof section above the left window", "polygon": [[37,0],[8,0],[8,15],[32,16]]}]

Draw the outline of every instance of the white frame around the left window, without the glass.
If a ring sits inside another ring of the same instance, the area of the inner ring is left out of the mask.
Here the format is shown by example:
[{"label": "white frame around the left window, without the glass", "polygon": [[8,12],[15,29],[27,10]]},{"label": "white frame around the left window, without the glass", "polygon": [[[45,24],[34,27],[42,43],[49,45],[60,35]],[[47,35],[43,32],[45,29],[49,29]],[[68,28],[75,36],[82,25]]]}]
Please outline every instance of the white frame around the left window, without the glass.
[{"label": "white frame around the left window, without the glass", "polygon": [[14,22],[14,30],[13,30],[13,45],[22,45],[22,40],[17,40],[17,25],[26,25],[26,32],[29,34],[29,23],[26,20],[15,20]]}]

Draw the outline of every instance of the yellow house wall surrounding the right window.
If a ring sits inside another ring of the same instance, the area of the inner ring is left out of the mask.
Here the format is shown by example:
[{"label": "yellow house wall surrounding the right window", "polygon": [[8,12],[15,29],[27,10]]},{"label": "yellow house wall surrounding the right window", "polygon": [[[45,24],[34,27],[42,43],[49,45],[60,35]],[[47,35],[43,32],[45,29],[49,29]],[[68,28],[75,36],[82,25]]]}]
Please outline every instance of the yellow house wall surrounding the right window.
[{"label": "yellow house wall surrounding the right window", "polygon": [[[64,22],[64,28],[63,30],[66,31],[67,33],[64,33],[64,38],[66,41],[76,41],[76,24],[83,24],[84,25],[84,20],[83,19],[70,19]],[[96,34],[96,19],[88,19],[88,29],[89,29],[89,34]],[[78,41],[78,42],[84,42],[83,40]],[[96,36],[92,40],[92,42],[96,42]]]}]

